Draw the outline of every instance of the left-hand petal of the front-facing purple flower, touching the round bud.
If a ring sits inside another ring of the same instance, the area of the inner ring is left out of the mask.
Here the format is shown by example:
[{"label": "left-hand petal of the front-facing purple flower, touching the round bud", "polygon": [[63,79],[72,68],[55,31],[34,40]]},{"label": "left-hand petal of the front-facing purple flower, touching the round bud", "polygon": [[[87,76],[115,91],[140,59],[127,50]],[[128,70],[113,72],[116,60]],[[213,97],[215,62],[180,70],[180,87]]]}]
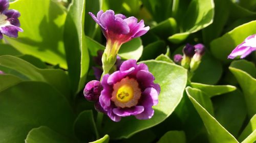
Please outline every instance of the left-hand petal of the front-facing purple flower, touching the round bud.
[{"label": "left-hand petal of the front-facing purple flower, touching the round bud", "polygon": [[101,85],[103,87],[103,90],[101,91],[101,94],[99,96],[99,102],[100,105],[104,110],[108,110],[108,108],[111,105],[111,94],[112,94],[112,87],[108,84],[108,78],[109,74],[106,74],[102,77]]}]

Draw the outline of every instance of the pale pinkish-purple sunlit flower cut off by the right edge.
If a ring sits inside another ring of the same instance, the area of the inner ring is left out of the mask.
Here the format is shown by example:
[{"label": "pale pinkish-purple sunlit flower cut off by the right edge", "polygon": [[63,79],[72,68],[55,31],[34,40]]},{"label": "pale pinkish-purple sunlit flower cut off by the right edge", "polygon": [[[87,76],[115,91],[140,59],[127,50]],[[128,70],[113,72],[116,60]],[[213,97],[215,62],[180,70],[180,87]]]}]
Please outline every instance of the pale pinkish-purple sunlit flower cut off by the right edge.
[{"label": "pale pinkish-purple sunlit flower cut off by the right edge", "polygon": [[228,55],[228,59],[234,59],[239,55],[241,55],[241,59],[243,59],[254,50],[256,50],[256,34],[248,36],[245,41],[234,48]]}]

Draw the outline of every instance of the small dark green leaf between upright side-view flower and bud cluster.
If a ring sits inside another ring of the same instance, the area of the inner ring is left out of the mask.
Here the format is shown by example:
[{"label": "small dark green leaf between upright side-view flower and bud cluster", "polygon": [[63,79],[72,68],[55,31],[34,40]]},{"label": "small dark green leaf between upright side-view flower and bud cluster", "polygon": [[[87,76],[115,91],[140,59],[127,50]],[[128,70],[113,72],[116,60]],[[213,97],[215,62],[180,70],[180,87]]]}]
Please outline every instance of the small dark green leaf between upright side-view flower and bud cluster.
[{"label": "small dark green leaf between upright side-view flower and bud cluster", "polygon": [[159,41],[153,42],[144,47],[141,60],[155,59],[159,54],[164,52],[165,52],[164,41],[159,40]]}]

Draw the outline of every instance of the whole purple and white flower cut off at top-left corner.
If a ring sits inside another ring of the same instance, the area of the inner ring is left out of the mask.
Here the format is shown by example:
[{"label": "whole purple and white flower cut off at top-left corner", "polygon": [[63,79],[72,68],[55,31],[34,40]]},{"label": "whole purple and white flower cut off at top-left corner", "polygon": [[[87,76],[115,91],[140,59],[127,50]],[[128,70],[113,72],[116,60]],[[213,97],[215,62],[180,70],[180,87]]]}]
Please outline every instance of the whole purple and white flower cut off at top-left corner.
[{"label": "whole purple and white flower cut off at top-left corner", "polygon": [[23,32],[20,28],[18,17],[20,13],[16,10],[8,10],[9,1],[0,0],[0,39],[3,34],[9,37],[18,37],[18,32]]}]

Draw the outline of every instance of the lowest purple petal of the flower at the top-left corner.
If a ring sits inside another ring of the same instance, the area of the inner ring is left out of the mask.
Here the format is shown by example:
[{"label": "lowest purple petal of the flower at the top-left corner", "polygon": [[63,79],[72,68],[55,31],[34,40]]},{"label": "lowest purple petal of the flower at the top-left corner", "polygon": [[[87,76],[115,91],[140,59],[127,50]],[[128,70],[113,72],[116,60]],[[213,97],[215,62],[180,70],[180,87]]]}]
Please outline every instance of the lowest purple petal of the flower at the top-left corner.
[{"label": "lowest purple petal of the flower at the top-left corner", "polygon": [[13,25],[7,25],[4,27],[0,27],[0,31],[9,37],[18,37],[18,31],[23,32],[22,28],[13,26]]}]

